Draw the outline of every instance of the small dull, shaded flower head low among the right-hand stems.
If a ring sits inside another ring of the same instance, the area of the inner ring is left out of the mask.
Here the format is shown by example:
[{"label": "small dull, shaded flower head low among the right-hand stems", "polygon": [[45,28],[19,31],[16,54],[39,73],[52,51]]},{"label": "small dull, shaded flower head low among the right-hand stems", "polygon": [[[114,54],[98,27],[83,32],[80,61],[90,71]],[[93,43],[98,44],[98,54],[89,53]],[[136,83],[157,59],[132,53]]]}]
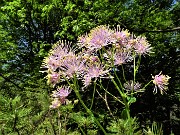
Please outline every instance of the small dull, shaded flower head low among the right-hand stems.
[{"label": "small dull, shaded flower head low among the right-hand stems", "polygon": [[141,84],[139,82],[133,82],[133,80],[130,80],[124,83],[124,88],[127,91],[138,91],[141,88]]}]

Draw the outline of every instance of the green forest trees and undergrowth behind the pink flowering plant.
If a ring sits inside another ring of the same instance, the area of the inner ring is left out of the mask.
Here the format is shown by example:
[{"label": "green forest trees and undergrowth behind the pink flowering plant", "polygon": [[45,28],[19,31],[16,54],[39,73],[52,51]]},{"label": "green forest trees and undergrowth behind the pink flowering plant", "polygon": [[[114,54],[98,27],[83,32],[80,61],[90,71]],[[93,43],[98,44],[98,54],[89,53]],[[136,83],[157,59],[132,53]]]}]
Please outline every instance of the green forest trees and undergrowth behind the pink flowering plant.
[{"label": "green forest trees and undergrowth behind the pink flowering plant", "polygon": [[[139,128],[153,122],[164,134],[180,133],[180,2],[177,0],[1,0],[0,2],[0,134],[58,134],[58,118],[66,134],[100,132],[81,105],[64,108],[61,117],[51,110],[52,88],[39,72],[45,56],[59,40],[76,42],[78,36],[99,25],[128,29],[144,35],[155,52],[142,58],[140,78],[162,71],[171,76],[167,94],[153,94],[153,87],[137,98],[131,115]],[[91,95],[85,93],[84,99]],[[87,99],[88,100],[88,99]],[[101,123],[107,108],[96,99]],[[118,105],[109,103],[117,115]],[[77,124],[78,123],[78,124]],[[77,126],[78,125],[78,126]],[[115,130],[116,131],[116,130]]]}]

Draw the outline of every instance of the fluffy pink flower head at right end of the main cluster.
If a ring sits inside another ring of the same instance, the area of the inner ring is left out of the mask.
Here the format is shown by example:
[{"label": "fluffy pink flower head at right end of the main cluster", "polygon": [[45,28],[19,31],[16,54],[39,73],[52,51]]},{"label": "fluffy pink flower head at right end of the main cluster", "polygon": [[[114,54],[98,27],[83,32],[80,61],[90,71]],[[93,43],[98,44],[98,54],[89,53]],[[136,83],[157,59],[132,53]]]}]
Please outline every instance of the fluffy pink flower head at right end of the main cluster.
[{"label": "fluffy pink flower head at right end of the main cluster", "polygon": [[137,37],[134,45],[135,52],[140,55],[145,55],[151,52],[150,44],[145,37]]}]

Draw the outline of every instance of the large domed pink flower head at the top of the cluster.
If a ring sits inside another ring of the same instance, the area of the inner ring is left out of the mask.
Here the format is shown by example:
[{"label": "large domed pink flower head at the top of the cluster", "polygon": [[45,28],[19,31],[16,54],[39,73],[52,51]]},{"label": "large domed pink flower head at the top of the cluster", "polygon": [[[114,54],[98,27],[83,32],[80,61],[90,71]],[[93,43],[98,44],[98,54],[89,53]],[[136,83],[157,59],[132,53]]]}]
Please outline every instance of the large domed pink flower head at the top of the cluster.
[{"label": "large domed pink flower head at the top of the cluster", "polygon": [[99,50],[107,46],[110,42],[112,32],[106,26],[98,26],[92,29],[87,37],[86,48],[90,50]]}]

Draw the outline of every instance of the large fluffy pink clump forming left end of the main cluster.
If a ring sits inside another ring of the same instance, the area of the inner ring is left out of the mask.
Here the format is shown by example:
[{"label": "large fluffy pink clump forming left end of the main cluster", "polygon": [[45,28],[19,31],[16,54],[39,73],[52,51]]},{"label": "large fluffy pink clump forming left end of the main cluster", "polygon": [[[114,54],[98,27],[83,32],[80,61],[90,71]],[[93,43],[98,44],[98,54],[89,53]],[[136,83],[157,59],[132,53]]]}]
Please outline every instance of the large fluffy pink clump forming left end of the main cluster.
[{"label": "large fluffy pink clump forming left end of the main cluster", "polygon": [[82,66],[76,63],[75,59],[75,50],[70,47],[70,43],[65,41],[56,43],[43,64],[43,67],[48,69],[48,83],[55,85],[58,81],[64,81],[64,77],[70,78],[77,70],[79,71]]}]

